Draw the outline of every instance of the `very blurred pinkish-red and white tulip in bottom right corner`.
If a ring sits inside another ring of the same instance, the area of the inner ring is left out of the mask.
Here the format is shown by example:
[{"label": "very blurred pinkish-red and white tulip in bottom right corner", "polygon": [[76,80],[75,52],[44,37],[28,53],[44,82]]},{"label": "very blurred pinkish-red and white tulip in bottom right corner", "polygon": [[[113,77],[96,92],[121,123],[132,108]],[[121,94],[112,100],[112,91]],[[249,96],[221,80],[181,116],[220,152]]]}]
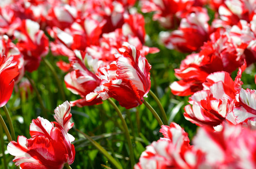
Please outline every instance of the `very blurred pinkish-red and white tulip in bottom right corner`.
[{"label": "very blurred pinkish-red and white tulip in bottom right corner", "polygon": [[219,132],[201,127],[193,139],[205,155],[199,168],[255,168],[255,139],[256,131],[242,125],[225,124]]}]

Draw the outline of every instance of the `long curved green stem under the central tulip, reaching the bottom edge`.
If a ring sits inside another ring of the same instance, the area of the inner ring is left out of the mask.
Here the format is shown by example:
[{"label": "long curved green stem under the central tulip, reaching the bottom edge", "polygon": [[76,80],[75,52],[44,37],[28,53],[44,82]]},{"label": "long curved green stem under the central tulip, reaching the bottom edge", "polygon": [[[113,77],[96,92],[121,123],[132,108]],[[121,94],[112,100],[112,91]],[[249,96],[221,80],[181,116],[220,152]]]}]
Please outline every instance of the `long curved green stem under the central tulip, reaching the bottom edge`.
[{"label": "long curved green stem under the central tulip, reaching the bottom edge", "polygon": [[128,142],[128,147],[129,147],[129,151],[130,151],[130,159],[131,159],[131,165],[132,165],[132,168],[133,166],[135,165],[135,159],[134,159],[134,152],[133,152],[133,146],[132,146],[132,140],[131,140],[131,136],[130,136],[130,133],[129,133],[129,130],[128,130],[128,127],[127,127],[127,124],[122,116],[122,113],[121,111],[119,110],[119,108],[117,107],[116,103],[111,100],[110,98],[107,99],[110,104],[115,108],[115,110],[117,111],[117,114],[119,116],[119,118],[121,119],[121,122],[122,122],[122,125],[123,125],[123,128],[124,128],[124,134],[125,134],[125,137],[127,139],[127,142]]}]

